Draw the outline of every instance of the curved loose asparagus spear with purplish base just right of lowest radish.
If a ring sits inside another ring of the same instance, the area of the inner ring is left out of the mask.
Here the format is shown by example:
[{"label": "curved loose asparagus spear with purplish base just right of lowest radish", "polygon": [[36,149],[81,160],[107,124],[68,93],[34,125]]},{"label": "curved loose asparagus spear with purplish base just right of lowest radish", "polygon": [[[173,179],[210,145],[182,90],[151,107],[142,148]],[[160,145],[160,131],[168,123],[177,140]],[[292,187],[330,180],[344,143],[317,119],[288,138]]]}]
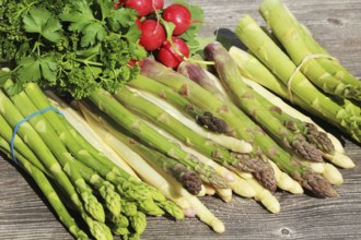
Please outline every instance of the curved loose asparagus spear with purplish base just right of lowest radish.
[{"label": "curved loose asparagus spear with purplish base just right of lowest radish", "polygon": [[321,152],[310,144],[302,134],[293,134],[265,107],[267,103],[243,80],[236,63],[220,43],[211,43],[205,48],[207,58],[216,63],[216,70],[223,85],[232,94],[236,105],[248,113],[280,145],[294,151],[312,161],[323,161]]}]

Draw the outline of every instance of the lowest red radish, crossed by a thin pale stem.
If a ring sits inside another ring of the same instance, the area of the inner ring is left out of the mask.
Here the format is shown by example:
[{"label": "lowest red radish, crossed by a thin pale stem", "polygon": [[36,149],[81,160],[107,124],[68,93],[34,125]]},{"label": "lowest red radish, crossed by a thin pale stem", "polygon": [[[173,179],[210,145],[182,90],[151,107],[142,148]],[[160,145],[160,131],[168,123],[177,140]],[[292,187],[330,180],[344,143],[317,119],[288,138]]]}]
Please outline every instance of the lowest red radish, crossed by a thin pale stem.
[{"label": "lowest red radish, crossed by a thin pale stem", "polygon": [[160,48],[156,59],[162,62],[164,65],[175,69],[185,58],[189,57],[189,48],[187,44],[182,40],[179,37],[172,37],[174,47],[183,55],[178,55],[176,50],[172,47],[171,43],[165,41]]}]

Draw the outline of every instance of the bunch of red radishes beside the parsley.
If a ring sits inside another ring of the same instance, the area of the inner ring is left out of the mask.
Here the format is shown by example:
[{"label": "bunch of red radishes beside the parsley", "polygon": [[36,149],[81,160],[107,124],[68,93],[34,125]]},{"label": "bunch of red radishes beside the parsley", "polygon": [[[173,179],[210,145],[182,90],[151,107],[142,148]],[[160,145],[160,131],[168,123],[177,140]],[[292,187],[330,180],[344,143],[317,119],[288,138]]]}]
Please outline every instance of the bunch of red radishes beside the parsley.
[{"label": "bunch of red radishes beside the parsley", "polygon": [[115,8],[130,8],[138,12],[139,44],[158,61],[173,69],[190,55],[183,35],[191,24],[200,22],[193,20],[186,2],[178,2],[166,8],[164,0],[119,0],[115,3]]}]

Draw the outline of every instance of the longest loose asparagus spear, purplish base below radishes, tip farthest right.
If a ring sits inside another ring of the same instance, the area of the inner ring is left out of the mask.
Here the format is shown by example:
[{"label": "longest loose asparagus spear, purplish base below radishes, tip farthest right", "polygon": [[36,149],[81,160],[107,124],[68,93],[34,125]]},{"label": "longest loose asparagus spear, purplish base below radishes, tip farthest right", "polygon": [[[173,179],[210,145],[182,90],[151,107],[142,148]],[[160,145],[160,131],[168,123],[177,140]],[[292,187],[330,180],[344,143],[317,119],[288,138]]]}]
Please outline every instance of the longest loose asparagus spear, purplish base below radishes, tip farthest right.
[{"label": "longest loose asparagus spear, purplish base below radishes, tip farthest right", "polygon": [[[205,109],[208,108],[213,115],[224,118],[230,125],[236,128],[236,134],[240,137],[252,142],[254,149],[260,149],[267,154],[281,170],[300,181],[303,188],[321,196],[337,195],[329,182],[311,169],[300,166],[235,106],[220,101],[214,98],[212,93],[207,92],[172,69],[167,69],[150,59],[143,61],[141,73],[172,87],[195,105],[202,106]],[[241,122],[242,124],[240,124]]]}]

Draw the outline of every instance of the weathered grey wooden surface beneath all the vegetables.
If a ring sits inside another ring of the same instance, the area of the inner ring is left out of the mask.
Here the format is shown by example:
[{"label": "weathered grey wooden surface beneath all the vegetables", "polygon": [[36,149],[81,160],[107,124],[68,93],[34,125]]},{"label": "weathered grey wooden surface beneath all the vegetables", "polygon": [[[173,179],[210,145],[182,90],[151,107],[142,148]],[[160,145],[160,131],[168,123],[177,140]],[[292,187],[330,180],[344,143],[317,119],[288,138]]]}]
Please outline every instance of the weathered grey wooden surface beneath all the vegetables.
[{"label": "weathered grey wooden surface beneath all the vegetables", "polygon": [[[244,14],[252,14],[261,23],[257,13],[260,0],[189,2],[205,10],[205,36],[218,31],[238,44],[232,31]],[[326,49],[361,76],[360,0],[284,2]],[[335,134],[357,164],[352,170],[341,170],[345,183],[338,188],[339,197],[325,200],[277,192],[281,213],[275,215],[253,200],[234,196],[232,202],[223,203],[207,196],[202,202],[223,220],[224,233],[214,233],[198,219],[175,223],[161,217],[149,218],[142,239],[361,239],[361,149],[349,137],[337,131]],[[39,193],[27,176],[0,156],[0,239],[71,239]]]}]

